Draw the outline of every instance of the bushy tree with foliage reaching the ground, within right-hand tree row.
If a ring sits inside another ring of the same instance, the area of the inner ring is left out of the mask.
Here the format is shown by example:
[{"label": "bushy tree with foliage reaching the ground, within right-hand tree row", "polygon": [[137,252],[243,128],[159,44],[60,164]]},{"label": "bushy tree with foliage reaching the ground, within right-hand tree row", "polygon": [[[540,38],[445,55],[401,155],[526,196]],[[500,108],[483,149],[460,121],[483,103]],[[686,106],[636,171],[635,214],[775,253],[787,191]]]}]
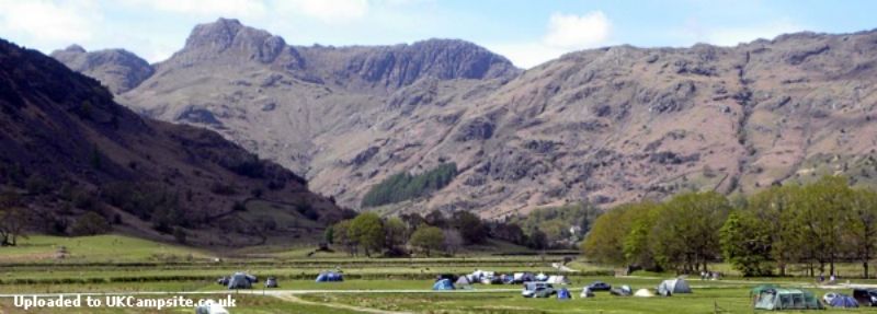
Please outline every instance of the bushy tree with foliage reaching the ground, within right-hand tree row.
[{"label": "bushy tree with foliage reaching the ground, within right-hand tree row", "polygon": [[744,277],[771,274],[768,224],[745,211],[732,212],[719,231],[725,260]]}]

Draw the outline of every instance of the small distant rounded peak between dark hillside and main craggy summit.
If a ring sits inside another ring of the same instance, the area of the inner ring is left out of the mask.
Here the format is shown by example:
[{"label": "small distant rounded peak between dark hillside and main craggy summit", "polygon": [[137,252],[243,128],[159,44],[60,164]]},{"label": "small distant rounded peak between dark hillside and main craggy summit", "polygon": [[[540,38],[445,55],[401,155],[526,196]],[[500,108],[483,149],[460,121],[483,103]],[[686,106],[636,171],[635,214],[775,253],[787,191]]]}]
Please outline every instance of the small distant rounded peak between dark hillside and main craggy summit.
[{"label": "small distant rounded peak between dark hillside and main craggy summit", "polygon": [[136,88],[155,72],[149,62],[124,49],[88,53],[72,45],[50,56],[73,71],[98,79],[116,94]]}]

